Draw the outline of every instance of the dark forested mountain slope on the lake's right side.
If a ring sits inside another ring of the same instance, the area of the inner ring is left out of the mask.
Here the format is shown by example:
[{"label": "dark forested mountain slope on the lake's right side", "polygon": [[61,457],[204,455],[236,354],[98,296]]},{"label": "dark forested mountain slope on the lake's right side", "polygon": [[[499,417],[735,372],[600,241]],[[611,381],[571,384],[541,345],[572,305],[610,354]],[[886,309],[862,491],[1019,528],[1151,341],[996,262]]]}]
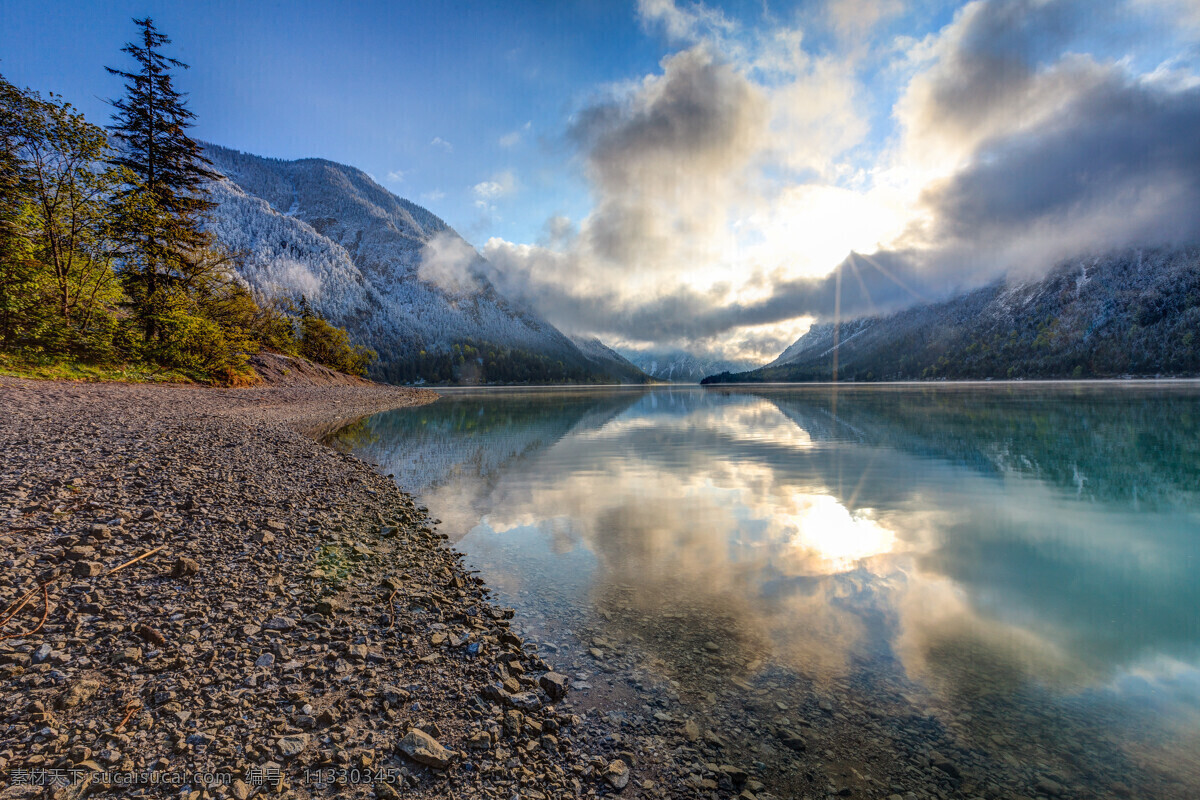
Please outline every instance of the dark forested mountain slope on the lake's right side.
[{"label": "dark forested mountain slope on the lake's right side", "polygon": [[704,383],[1200,374],[1200,246],[1058,264],[950,300],[814,325],[772,363]]}]

